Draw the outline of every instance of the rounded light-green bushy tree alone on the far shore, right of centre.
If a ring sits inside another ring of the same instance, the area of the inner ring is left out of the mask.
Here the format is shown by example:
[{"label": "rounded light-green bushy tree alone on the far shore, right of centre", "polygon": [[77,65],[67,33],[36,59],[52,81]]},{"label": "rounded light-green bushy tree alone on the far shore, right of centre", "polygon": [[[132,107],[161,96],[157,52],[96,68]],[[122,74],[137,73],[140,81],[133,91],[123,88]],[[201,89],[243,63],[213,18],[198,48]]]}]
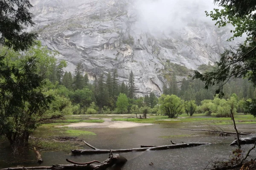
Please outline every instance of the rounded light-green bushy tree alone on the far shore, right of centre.
[{"label": "rounded light-green bushy tree alone on the far shore, right of centre", "polygon": [[162,94],[158,100],[160,109],[169,118],[177,118],[184,112],[184,101],[174,94],[171,96]]}]

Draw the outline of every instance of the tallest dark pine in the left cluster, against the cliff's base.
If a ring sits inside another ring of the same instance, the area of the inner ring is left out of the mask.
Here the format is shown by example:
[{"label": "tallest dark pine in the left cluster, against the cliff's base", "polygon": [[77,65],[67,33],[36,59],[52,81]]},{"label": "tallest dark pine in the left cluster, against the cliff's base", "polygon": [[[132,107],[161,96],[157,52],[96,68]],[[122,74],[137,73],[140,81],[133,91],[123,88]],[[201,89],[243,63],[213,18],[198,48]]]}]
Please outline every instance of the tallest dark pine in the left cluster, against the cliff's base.
[{"label": "tallest dark pine in the left cluster, against the cliff's base", "polygon": [[81,62],[76,66],[74,80],[74,90],[84,88],[83,66]]}]

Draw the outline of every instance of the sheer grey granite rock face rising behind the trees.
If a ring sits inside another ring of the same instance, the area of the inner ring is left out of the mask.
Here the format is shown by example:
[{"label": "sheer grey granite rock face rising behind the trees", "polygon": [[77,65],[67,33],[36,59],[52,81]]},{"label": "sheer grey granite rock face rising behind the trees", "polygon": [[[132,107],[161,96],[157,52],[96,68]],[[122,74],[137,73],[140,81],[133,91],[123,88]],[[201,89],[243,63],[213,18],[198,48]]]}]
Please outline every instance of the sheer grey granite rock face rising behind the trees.
[{"label": "sheer grey granite rock face rising behind the trees", "polygon": [[[206,22],[189,21],[181,29],[151,34],[141,29],[133,0],[32,0],[35,28],[43,45],[60,52],[67,71],[82,62],[93,79],[101,71],[118,70],[128,83],[132,70],[137,95],[162,93],[170,63],[196,69],[215,62],[227,34]],[[154,11],[152,11],[154,12]],[[177,79],[184,77],[177,73]]]}]

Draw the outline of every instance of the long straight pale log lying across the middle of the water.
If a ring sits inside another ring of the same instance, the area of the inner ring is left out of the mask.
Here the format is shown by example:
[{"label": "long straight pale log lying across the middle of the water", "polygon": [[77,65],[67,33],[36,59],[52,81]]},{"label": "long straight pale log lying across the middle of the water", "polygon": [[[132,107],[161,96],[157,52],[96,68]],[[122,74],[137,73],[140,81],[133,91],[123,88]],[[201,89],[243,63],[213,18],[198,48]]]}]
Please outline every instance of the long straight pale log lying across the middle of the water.
[{"label": "long straight pale log lying across the middle of the water", "polygon": [[[177,149],[184,147],[194,147],[210,143],[182,143],[182,144],[172,144],[172,145],[163,145],[155,147],[141,147],[141,148],[131,148],[131,149],[116,149],[111,150],[113,153],[124,153],[124,152],[140,152],[145,150],[166,150],[166,149]],[[91,146],[91,145],[90,145]],[[93,147],[91,147],[93,148]],[[93,149],[93,150],[71,150],[74,155],[86,155],[86,154],[97,154],[97,153],[109,153],[110,150],[107,149]]]}]

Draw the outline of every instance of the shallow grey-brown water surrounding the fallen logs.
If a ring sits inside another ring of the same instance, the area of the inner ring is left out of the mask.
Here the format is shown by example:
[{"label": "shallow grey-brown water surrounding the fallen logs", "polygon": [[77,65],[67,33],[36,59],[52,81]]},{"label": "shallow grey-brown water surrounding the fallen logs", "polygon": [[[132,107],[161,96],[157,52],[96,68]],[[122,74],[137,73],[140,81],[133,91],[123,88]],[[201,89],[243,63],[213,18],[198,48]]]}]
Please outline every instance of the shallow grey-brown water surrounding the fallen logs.
[{"label": "shallow grey-brown water surrounding the fallen logs", "polygon": [[[131,128],[99,128],[82,129],[96,133],[96,136],[79,136],[88,143],[99,149],[122,149],[140,147],[140,145],[165,145],[170,141],[177,143],[186,142],[209,142],[212,144],[173,150],[145,151],[134,153],[121,153],[128,159],[122,170],[202,170],[209,161],[224,159],[230,156],[236,147],[229,146],[235,136],[207,135],[204,132],[196,132],[200,136],[194,136],[194,131],[184,131],[178,128],[183,124],[160,124]],[[247,128],[251,128],[249,125]],[[175,137],[173,135],[187,135],[189,137]],[[173,136],[163,138],[160,136]],[[252,145],[244,145],[242,149],[247,150]],[[88,149],[87,146],[84,146]],[[255,154],[254,154],[255,155]],[[108,154],[72,156],[70,152],[44,152],[42,151],[44,163],[41,166],[52,164],[67,164],[65,159],[78,162],[92,160],[104,161]],[[150,166],[149,163],[154,165]],[[10,150],[4,146],[0,147],[0,168],[14,166],[38,166],[35,162],[35,153],[29,152],[24,156],[14,158]]]}]

